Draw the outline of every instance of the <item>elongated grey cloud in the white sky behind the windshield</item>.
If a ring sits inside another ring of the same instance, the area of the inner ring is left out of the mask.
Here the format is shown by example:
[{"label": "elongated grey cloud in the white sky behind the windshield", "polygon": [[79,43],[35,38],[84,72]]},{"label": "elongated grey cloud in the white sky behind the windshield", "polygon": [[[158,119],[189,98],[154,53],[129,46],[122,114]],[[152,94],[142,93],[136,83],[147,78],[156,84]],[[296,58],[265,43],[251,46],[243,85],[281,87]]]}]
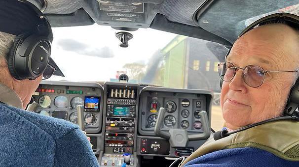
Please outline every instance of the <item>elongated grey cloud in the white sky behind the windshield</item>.
[{"label": "elongated grey cloud in the white sky behind the windshield", "polygon": [[101,58],[114,57],[114,53],[109,47],[93,48],[74,39],[61,39],[57,42],[57,44],[65,51],[71,51],[81,55],[96,56]]}]

